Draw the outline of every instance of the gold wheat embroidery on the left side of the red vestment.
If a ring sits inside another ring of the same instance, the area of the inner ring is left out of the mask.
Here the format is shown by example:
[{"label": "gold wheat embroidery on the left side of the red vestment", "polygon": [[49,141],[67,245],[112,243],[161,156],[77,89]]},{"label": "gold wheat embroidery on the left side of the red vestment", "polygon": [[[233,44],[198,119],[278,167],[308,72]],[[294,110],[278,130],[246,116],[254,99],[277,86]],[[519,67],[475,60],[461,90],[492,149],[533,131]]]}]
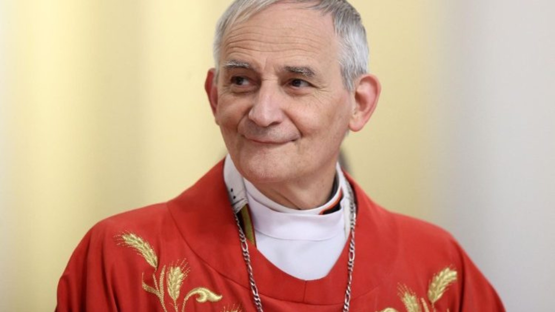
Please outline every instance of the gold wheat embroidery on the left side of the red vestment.
[{"label": "gold wheat embroidery on the left side of the red vestment", "polygon": [[[164,312],[168,312],[165,305],[165,291],[164,291],[164,281],[168,288],[168,295],[173,303],[173,308],[175,312],[179,312],[179,295],[181,293],[181,286],[183,281],[189,275],[190,268],[185,260],[180,261],[180,263],[173,265],[170,264],[168,270],[166,271],[166,265],[162,266],[160,274],[157,278],[156,273],[158,271],[158,256],[156,255],[154,249],[150,246],[148,241],[134,233],[124,233],[117,236],[120,245],[126,245],[138,251],[138,253],[147,261],[147,263],[154,268],[154,273],[152,274],[152,280],[154,282],[154,287],[148,285],[144,281],[144,273],[142,274],[142,287],[143,290],[150,294],[158,297],[160,305]],[[205,303],[207,301],[217,302],[220,301],[222,295],[218,295],[213,291],[205,287],[196,287],[191,289],[189,293],[183,298],[183,303],[181,304],[181,312],[185,311],[185,304],[192,296],[196,295],[196,302]],[[233,312],[233,311],[230,311]]]}]

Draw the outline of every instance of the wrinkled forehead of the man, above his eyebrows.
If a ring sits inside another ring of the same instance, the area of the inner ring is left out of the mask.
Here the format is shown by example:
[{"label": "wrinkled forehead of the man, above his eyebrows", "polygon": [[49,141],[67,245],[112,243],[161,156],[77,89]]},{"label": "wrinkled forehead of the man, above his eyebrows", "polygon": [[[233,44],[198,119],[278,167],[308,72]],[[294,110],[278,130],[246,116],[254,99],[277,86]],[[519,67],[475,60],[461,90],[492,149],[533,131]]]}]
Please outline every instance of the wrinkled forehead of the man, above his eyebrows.
[{"label": "wrinkled forehead of the man, above his eyebrows", "polygon": [[241,59],[324,65],[337,61],[337,47],[330,14],[322,15],[306,4],[276,3],[232,26],[223,39],[220,59],[221,63]]}]

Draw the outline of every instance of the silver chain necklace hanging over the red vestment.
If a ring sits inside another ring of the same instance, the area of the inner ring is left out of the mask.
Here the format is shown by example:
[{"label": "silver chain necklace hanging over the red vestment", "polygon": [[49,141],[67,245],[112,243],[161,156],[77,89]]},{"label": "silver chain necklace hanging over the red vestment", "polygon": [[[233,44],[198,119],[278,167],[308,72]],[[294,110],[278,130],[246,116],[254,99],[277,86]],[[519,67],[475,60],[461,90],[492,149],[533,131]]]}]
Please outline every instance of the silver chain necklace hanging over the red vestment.
[{"label": "silver chain necklace hanging over the red vestment", "polygon": [[[349,209],[351,214],[351,240],[349,242],[349,262],[347,263],[347,272],[349,276],[347,278],[347,289],[345,290],[343,312],[349,312],[349,304],[351,303],[352,270],[355,268],[356,207],[351,185],[349,185],[349,182],[347,182],[346,184],[347,189],[349,189],[349,195],[351,197],[349,202]],[[241,241],[241,250],[243,250],[243,259],[245,260],[246,271],[249,274],[250,290],[253,293],[254,305],[256,306],[256,310],[258,312],[263,312],[264,310],[262,309],[262,300],[260,299],[260,295],[258,294],[258,287],[256,287],[256,282],[254,281],[253,266],[250,262],[249,245],[247,244],[246,236],[243,232],[243,228],[241,228],[241,224],[239,223],[239,218],[237,217],[237,214],[234,213],[233,215],[235,216],[235,222],[237,223],[237,228],[239,229],[239,240]]]}]

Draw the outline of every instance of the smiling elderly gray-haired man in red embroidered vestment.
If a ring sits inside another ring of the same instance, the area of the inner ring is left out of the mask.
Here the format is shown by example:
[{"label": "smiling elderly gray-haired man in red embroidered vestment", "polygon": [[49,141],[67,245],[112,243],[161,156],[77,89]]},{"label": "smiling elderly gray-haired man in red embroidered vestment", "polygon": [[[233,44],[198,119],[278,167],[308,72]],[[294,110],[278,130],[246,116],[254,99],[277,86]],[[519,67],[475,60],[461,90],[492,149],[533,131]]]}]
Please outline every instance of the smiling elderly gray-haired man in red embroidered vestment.
[{"label": "smiling elderly gray-haired man in red embroidered vestment", "polygon": [[380,208],[337,164],[380,94],[367,53],[346,1],[231,4],[205,82],[229,155],[95,225],[57,310],[503,311],[449,234]]}]

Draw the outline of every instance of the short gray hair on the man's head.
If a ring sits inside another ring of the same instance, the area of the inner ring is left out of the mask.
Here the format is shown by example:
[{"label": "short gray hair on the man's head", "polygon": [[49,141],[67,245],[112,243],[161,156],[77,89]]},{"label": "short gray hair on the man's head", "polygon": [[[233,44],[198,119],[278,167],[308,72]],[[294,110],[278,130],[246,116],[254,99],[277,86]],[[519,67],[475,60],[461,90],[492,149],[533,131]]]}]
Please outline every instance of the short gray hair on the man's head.
[{"label": "short gray hair on the man's head", "polygon": [[[231,3],[216,26],[213,50],[216,75],[220,62],[220,48],[226,32],[235,24],[246,21],[254,14],[280,1],[284,0],[235,0]],[[286,2],[317,2],[307,8],[320,11],[322,15],[331,14],[334,19],[335,33],[339,37],[339,63],[343,83],[348,90],[354,90],[355,79],[368,71],[368,43],[359,12],[346,0],[286,0]]]}]

